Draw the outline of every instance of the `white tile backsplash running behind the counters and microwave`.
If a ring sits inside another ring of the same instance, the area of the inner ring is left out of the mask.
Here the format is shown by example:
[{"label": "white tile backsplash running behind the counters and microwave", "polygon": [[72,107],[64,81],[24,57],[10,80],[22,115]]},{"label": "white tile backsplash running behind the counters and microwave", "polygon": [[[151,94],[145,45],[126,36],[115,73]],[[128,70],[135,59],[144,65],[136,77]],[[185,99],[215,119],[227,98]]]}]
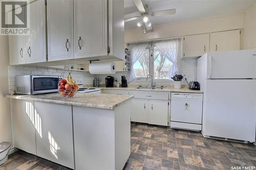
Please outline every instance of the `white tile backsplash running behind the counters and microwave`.
[{"label": "white tile backsplash running behind the counters and microwave", "polygon": [[[46,75],[46,76],[59,76],[62,69],[53,68],[40,68],[40,67],[27,67],[27,66],[8,66],[9,74],[9,90],[16,90],[16,75]],[[187,81],[197,80],[197,59],[181,59],[180,61],[180,74],[186,75]],[[83,82],[83,84],[91,85],[93,84],[93,79],[98,78],[100,84],[105,84],[105,77],[108,75],[91,75],[89,72],[84,71],[72,71],[73,78],[78,82]],[[125,76],[127,82],[130,82],[130,72],[116,72],[116,74],[111,75],[121,83],[121,76]],[[131,84],[148,84],[150,81],[134,81]],[[172,85],[172,82],[156,81],[157,85]],[[182,81],[185,85],[185,80]]]}]

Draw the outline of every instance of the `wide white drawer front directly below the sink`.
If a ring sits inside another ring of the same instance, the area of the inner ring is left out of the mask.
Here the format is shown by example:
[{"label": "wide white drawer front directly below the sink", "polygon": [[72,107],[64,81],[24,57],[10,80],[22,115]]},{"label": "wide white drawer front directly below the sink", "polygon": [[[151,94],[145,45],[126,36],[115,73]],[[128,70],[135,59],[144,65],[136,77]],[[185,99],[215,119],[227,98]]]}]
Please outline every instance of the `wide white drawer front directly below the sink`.
[{"label": "wide white drawer front directly below the sink", "polygon": [[134,98],[139,99],[158,99],[169,100],[169,92],[151,92],[151,91],[130,91],[130,95],[134,95]]}]

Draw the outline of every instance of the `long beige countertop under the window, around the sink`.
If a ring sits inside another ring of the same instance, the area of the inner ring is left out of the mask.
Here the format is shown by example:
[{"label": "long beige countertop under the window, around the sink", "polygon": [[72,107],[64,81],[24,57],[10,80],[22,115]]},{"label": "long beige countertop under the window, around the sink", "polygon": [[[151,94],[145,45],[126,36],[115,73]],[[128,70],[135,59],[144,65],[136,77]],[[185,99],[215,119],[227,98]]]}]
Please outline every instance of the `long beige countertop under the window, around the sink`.
[{"label": "long beige countertop under the window, around the sink", "polygon": [[164,87],[163,89],[141,89],[137,87],[99,87],[100,89],[112,89],[112,90],[139,90],[139,91],[164,91],[164,92],[186,92],[186,93],[203,93],[201,90],[191,90],[187,87],[181,89],[175,89],[172,87]]}]

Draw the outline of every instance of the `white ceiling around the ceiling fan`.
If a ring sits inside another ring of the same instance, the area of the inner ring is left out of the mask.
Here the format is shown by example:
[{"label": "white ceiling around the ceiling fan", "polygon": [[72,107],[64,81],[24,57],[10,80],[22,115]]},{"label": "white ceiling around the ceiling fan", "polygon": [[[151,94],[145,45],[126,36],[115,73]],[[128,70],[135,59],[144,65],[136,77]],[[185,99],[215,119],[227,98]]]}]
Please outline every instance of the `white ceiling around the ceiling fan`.
[{"label": "white ceiling around the ceiling fan", "polygon": [[[156,25],[245,12],[256,0],[141,0],[148,12],[176,8],[175,15],[150,17]],[[140,16],[133,0],[124,0],[124,18]],[[124,29],[136,29],[137,20],[125,22]]]}]

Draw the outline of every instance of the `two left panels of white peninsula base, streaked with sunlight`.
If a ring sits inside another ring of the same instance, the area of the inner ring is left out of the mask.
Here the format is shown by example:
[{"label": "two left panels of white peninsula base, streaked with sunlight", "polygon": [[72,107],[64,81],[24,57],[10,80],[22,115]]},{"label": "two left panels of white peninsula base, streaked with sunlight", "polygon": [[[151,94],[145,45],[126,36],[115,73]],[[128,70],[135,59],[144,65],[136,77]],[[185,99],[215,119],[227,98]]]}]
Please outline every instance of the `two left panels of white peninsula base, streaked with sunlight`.
[{"label": "two left panels of white peninsula base, streaked with sunlight", "polygon": [[12,99],[14,147],[74,169],[71,107]]}]

